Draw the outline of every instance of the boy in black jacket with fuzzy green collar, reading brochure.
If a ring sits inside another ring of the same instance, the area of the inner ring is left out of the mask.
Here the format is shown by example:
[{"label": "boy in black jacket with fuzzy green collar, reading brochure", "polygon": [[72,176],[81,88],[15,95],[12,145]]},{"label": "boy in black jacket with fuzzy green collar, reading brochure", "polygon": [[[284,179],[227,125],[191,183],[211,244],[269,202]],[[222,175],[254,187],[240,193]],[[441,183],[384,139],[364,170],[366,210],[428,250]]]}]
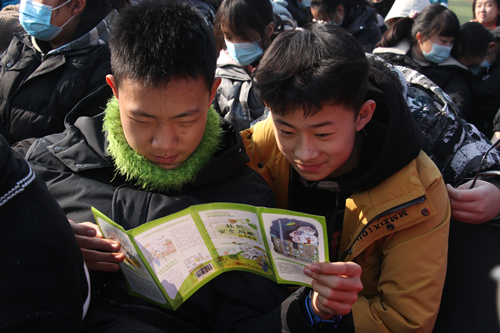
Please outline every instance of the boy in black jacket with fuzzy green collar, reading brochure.
[{"label": "boy in black jacket with fuzzy green collar, reading brochure", "polygon": [[[313,331],[287,288],[250,273],[222,274],[175,312],[128,295],[116,273],[123,261],[119,244],[84,222],[92,220],[90,206],[130,229],[194,204],[276,203],[265,180],[245,165],[239,133],[210,107],[219,83],[216,48],[194,9],[162,0],[130,6],[110,48],[107,82],[115,98],[104,114],[76,118],[74,110],[69,119],[76,121],[65,133],[36,141],[26,155],[79,223],[72,224],[74,232],[93,271],[86,331]],[[340,287],[350,296],[346,312],[361,289],[357,277]]]}]

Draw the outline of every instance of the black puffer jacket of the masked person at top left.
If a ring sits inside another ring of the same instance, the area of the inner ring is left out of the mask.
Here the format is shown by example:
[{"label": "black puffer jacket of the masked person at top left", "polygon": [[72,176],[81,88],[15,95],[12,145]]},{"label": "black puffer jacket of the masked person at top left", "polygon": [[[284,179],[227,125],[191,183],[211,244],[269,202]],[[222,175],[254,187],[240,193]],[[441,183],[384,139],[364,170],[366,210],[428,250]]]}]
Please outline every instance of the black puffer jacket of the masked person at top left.
[{"label": "black puffer jacket of the masked person at top left", "polygon": [[[106,85],[111,73],[108,48],[112,11],[81,37],[50,50],[47,42],[16,35],[0,58],[0,134],[12,145],[64,130],[64,117],[85,96]],[[106,106],[111,89],[94,103]]]}]

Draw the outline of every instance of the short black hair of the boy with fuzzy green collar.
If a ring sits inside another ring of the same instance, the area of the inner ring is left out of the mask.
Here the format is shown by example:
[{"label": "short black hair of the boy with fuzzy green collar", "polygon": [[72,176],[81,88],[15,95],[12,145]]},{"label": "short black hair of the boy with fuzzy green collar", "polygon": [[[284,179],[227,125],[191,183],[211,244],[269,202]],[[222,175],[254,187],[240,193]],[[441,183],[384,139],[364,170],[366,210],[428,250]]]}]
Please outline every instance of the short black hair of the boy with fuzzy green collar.
[{"label": "short black hair of the boy with fuzzy green collar", "polygon": [[217,53],[212,31],[198,10],[174,0],[143,0],[121,12],[110,39],[115,83],[128,78],[166,86],[172,79],[202,78],[213,86]]}]

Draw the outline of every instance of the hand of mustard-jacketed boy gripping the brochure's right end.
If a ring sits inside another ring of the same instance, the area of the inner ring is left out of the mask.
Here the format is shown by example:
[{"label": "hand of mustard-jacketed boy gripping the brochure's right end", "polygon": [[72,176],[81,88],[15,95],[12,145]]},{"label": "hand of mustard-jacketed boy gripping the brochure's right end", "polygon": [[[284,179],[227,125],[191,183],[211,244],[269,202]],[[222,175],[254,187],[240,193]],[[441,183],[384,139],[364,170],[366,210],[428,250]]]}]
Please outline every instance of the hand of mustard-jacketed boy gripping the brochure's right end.
[{"label": "hand of mustard-jacketed boy gripping the brochure's right end", "polygon": [[321,262],[304,268],[313,278],[312,310],[321,319],[346,315],[363,289],[361,266],[354,262]]}]

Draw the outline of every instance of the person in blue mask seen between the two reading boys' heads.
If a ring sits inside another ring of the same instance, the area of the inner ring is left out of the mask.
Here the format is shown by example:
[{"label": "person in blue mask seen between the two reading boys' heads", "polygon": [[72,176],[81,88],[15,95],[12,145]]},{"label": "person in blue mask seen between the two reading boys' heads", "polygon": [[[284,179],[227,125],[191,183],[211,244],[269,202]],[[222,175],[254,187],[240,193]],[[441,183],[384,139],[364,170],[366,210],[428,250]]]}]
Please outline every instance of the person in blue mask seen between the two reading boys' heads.
[{"label": "person in blue mask seen between the two reading boys' heads", "polygon": [[294,22],[273,12],[269,0],[224,0],[217,11],[214,34],[216,76],[221,78],[213,105],[239,130],[250,127],[265,110],[255,95],[253,71],[271,41]]}]

